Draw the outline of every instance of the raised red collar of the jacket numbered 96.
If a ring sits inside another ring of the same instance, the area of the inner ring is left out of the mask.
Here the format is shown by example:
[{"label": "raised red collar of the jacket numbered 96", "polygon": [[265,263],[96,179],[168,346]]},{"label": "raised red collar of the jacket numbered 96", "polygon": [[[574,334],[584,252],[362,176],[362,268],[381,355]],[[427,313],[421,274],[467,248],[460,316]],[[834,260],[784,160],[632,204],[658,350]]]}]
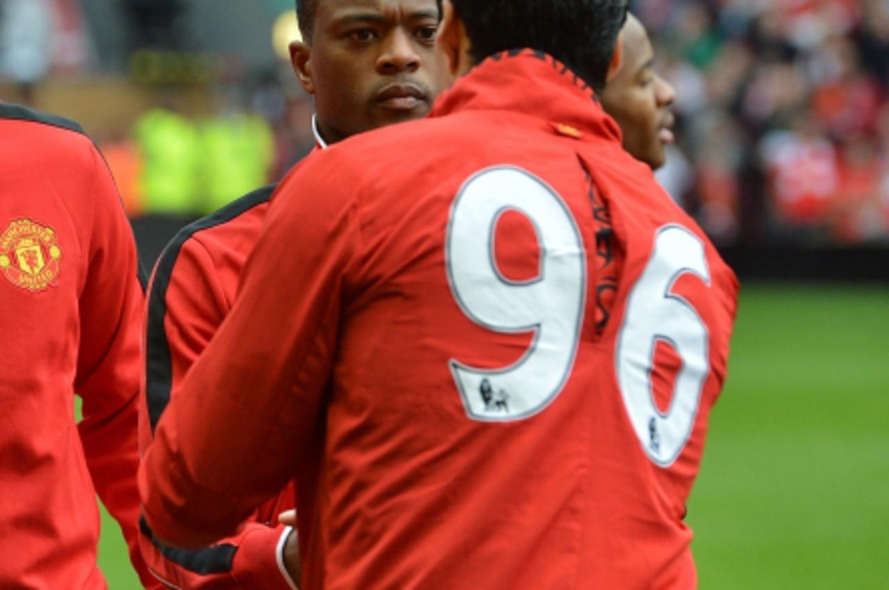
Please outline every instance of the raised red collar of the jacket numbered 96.
[{"label": "raised red collar of the jacket numbered 96", "polygon": [[539,117],[580,134],[621,139],[592,88],[552,56],[530,49],[482,61],[442,93],[430,116],[464,110],[506,110]]}]

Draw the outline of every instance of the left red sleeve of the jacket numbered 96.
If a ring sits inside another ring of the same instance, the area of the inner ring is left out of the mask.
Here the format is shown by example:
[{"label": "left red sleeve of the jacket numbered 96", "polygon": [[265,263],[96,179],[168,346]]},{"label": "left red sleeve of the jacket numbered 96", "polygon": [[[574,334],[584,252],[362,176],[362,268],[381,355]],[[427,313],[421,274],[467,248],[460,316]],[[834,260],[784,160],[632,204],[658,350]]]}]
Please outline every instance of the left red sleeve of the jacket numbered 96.
[{"label": "left red sleeve of the jacket numbered 96", "polygon": [[310,458],[358,250],[349,166],[327,154],[279,189],[235,306],[157,427],[140,492],[160,538],[231,534]]}]

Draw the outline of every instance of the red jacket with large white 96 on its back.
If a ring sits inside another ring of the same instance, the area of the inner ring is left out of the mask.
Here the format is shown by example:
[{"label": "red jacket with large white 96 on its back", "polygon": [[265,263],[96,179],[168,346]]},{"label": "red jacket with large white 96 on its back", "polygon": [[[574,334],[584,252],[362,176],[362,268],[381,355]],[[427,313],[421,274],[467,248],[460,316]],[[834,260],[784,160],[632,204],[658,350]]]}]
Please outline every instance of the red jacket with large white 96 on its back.
[{"label": "red jacket with large white 96 on its back", "polygon": [[159,536],[226,534],[296,475],[309,590],[696,586],[737,282],[589,88],[496,56],[277,195],[141,468]]}]

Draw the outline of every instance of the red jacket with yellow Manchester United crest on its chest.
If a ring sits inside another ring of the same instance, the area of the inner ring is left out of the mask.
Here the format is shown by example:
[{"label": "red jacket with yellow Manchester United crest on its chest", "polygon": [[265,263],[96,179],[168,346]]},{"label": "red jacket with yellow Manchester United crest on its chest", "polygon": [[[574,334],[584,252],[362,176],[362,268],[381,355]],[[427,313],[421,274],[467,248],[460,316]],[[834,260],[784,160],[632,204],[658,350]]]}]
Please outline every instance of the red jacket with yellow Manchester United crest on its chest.
[{"label": "red jacket with yellow Manchester United crest on its chest", "polygon": [[149,584],[136,547],[143,294],[120,198],[79,127],[12,105],[0,179],[0,587],[107,587],[97,492]]}]

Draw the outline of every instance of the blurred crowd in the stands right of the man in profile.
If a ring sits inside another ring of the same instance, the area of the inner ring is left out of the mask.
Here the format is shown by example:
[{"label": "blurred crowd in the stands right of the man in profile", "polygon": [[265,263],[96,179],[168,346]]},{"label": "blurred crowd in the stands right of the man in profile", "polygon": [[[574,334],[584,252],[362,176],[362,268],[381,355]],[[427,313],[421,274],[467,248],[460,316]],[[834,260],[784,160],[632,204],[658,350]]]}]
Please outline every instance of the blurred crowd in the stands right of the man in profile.
[{"label": "blurred crowd in the stands right of the man in profile", "polygon": [[889,240],[889,2],[635,9],[677,90],[661,181],[718,243]]}]

